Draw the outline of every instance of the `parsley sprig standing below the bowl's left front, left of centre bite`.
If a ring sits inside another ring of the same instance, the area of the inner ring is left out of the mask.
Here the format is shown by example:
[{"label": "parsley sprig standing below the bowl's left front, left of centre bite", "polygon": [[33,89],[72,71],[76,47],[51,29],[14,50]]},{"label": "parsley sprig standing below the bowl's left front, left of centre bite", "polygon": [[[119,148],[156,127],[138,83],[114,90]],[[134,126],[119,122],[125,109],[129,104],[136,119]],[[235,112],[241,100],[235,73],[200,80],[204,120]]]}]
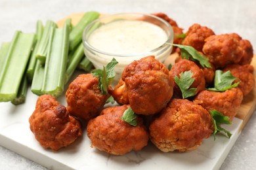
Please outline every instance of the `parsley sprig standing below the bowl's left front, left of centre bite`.
[{"label": "parsley sprig standing below the bowl's left front, left of centre bite", "polygon": [[106,67],[103,66],[103,69],[95,69],[92,71],[93,76],[98,76],[98,88],[101,90],[102,94],[108,94],[108,86],[116,76],[114,67],[117,63],[116,59],[113,58]]}]

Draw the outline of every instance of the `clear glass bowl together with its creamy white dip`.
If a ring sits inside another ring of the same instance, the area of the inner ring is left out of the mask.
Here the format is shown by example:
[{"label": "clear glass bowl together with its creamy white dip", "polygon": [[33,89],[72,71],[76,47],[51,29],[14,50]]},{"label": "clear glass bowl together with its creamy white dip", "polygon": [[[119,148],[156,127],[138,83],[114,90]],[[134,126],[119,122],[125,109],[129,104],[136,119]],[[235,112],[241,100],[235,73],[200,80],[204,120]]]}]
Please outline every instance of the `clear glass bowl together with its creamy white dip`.
[{"label": "clear glass bowl together with its creamy white dip", "polygon": [[173,43],[173,29],[165,20],[151,14],[122,13],[98,18],[83,32],[85,56],[96,69],[102,69],[113,58],[119,80],[125,66],[146,56],[163,62]]}]

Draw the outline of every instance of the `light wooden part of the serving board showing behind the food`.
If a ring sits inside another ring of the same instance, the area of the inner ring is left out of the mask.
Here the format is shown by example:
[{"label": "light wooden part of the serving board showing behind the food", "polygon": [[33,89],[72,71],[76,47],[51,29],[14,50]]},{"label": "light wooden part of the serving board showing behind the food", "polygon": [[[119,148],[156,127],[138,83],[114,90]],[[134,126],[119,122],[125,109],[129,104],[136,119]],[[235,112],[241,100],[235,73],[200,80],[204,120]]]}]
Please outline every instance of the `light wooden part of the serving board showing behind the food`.
[{"label": "light wooden part of the serving board showing behind the food", "polygon": [[[76,25],[79,22],[79,20],[81,19],[81,17],[83,16],[83,14],[84,13],[75,13],[75,14],[66,16],[65,18],[62,18],[61,20],[59,20],[57,22],[57,25],[58,25],[58,27],[62,27],[64,25],[64,22],[68,18],[71,18],[72,24]],[[106,14],[101,14],[101,16],[105,16],[105,15]],[[174,63],[175,58],[176,58],[175,54],[174,55],[172,54],[171,56],[169,56],[169,58],[167,58],[165,60],[165,63]],[[256,54],[253,57],[253,61],[251,62],[251,65],[256,67]],[[254,70],[254,76],[256,78],[255,70]],[[244,97],[244,99],[242,101],[242,105],[241,105],[240,109],[238,110],[238,114],[236,115],[236,118],[240,118],[240,119],[244,120],[240,130],[242,130],[244,128],[245,124],[247,124],[249,118],[251,117],[254,110],[256,109],[255,95],[256,95],[256,85],[254,86],[253,91]]]}]

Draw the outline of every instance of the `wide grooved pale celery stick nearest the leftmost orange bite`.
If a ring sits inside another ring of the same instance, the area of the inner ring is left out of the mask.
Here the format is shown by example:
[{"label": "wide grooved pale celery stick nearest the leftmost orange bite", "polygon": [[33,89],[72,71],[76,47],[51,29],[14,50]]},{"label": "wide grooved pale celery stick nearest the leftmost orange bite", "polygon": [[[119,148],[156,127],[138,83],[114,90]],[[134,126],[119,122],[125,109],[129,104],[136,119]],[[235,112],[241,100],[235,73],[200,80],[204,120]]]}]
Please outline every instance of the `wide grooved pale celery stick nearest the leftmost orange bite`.
[{"label": "wide grooved pale celery stick nearest the leftmost orange bite", "polygon": [[68,35],[67,24],[63,28],[51,29],[42,92],[49,93],[54,97],[61,95],[64,90],[68,60]]}]

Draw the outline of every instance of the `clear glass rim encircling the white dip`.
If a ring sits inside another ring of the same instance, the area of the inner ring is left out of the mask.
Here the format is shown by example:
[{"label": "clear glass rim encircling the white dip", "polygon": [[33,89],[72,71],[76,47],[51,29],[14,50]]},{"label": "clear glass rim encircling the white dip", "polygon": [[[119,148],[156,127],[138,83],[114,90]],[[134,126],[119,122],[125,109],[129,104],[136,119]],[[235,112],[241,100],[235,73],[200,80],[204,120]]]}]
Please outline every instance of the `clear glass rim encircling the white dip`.
[{"label": "clear glass rim encircling the white dip", "polygon": [[[91,46],[91,44],[89,44],[89,42],[87,40],[85,40],[85,34],[87,33],[88,29],[91,27],[91,25],[93,25],[95,22],[98,22],[104,18],[108,18],[108,17],[113,17],[113,16],[123,16],[123,15],[141,15],[141,16],[150,16],[152,18],[155,18],[157,20],[160,20],[163,24],[165,24],[168,27],[168,30],[170,31],[170,35],[167,38],[167,41],[163,42],[163,44],[161,44],[161,46],[159,46],[158,48],[154,48],[153,50],[147,51],[147,52],[140,52],[140,53],[131,53],[131,54],[115,54],[115,53],[109,53],[109,52],[104,52],[102,50],[98,50],[97,48]],[[163,49],[165,46],[170,46],[169,44],[167,44],[166,42],[170,42],[171,40],[173,40],[174,38],[174,33],[173,33],[173,27],[171,27],[171,24],[169,24],[167,21],[163,20],[162,18],[155,16],[153,14],[143,14],[143,13],[139,13],[139,12],[122,12],[122,13],[117,13],[117,14],[110,14],[108,16],[102,16],[96,20],[94,20],[93,22],[91,22],[90,24],[88,24],[85,29],[83,30],[83,35],[82,35],[82,41],[83,41],[83,46],[85,48],[89,48],[90,50],[93,50],[95,52],[98,52],[100,54],[104,54],[106,56],[116,56],[116,57],[136,57],[136,56],[148,56],[154,52],[157,52],[158,50]]]}]

